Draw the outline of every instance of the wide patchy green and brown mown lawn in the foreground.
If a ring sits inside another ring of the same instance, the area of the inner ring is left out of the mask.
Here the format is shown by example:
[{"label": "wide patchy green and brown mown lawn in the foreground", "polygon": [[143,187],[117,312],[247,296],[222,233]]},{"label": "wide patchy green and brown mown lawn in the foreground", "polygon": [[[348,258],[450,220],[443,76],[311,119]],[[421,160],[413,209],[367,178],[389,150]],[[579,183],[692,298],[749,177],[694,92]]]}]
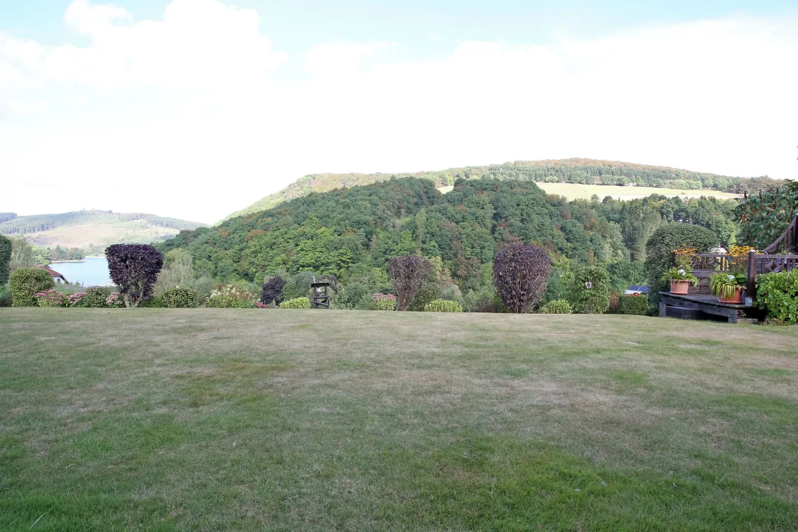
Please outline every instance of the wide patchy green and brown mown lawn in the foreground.
[{"label": "wide patchy green and brown mown lawn in the foreground", "polygon": [[796,340],[2,308],[0,530],[796,530]]}]

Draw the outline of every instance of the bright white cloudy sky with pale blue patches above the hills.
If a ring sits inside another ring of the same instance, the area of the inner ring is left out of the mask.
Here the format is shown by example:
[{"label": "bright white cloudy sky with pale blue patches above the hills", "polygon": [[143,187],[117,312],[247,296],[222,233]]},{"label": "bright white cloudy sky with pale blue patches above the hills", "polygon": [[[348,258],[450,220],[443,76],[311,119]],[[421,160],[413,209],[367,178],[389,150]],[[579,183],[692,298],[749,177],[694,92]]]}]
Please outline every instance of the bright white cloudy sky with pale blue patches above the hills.
[{"label": "bright white cloudy sky with pale blue patches above the hills", "polygon": [[307,173],[564,157],[795,178],[796,58],[794,0],[0,0],[0,211],[214,222]]}]

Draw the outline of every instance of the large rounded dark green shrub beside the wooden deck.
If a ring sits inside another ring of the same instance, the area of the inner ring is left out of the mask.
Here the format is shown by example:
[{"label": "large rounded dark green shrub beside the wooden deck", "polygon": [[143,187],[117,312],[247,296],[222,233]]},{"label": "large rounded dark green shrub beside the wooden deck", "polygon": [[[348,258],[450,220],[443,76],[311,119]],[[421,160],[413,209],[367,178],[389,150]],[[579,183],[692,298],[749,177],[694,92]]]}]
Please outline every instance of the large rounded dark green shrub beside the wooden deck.
[{"label": "large rounded dark green shrub beside the wooden deck", "polygon": [[646,276],[649,280],[649,303],[659,305],[659,292],[665,292],[667,281],[662,274],[674,266],[674,249],[693,248],[697,253],[709,252],[720,238],[701,225],[674,222],[654,231],[646,244]]}]

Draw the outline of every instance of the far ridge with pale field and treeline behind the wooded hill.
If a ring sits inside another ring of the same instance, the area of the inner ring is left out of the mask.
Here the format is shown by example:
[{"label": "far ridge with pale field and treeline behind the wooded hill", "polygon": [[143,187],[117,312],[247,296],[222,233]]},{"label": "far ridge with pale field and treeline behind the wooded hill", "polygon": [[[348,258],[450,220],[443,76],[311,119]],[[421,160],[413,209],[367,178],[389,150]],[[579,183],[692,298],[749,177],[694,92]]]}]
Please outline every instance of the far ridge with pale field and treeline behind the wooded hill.
[{"label": "far ridge with pale field and treeline behind the wooded hill", "polygon": [[515,161],[504,165],[468,166],[418,173],[319,173],[302,177],[285,189],[264,197],[247,208],[227,216],[243,216],[272,208],[283,201],[310,193],[330,192],[356,185],[371,185],[391,178],[417,177],[432,181],[436,187],[453,185],[457,179],[515,179],[583,185],[644,185],[673,189],[713,189],[743,193],[760,189],[767,177],[729,177],[713,173],[690,172],[666,166],[637,165],[620,161],[595,159],[562,159],[548,161]]}]

